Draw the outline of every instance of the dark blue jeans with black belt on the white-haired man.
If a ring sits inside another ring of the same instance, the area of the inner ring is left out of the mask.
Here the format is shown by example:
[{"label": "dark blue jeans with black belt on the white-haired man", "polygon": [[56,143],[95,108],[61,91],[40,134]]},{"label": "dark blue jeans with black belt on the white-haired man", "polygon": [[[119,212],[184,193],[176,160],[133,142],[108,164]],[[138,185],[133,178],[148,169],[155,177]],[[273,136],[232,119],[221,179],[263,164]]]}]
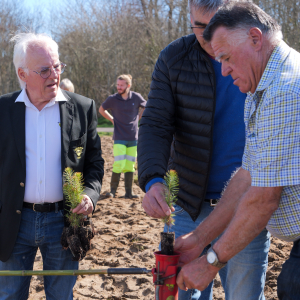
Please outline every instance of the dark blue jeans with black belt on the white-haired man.
[{"label": "dark blue jeans with black belt on the white-haired man", "polygon": [[[0,270],[32,270],[40,248],[44,270],[77,270],[70,250],[63,250],[60,237],[64,227],[63,211],[39,213],[23,208],[20,229],[13,252]],[[28,298],[30,276],[0,276],[0,300]],[[47,300],[73,299],[76,276],[45,276]]]}]

